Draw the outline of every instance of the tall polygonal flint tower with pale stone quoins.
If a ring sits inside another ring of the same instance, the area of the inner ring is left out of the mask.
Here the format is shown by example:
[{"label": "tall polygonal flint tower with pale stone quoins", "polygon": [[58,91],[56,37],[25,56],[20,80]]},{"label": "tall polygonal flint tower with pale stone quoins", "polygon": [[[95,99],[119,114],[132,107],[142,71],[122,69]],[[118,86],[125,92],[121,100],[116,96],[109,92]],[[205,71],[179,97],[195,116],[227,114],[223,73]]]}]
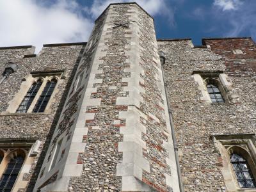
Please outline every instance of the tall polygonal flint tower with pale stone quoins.
[{"label": "tall polygonal flint tower with pale stone quoins", "polygon": [[110,4],[81,57],[34,191],[179,191],[152,17]]}]

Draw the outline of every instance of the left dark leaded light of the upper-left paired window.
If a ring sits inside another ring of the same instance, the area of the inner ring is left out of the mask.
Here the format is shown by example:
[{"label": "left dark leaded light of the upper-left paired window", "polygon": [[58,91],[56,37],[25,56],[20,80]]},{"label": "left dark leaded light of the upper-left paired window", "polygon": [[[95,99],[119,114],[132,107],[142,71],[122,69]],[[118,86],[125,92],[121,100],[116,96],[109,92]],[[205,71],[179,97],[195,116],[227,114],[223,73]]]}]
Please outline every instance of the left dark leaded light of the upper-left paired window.
[{"label": "left dark leaded light of the upper-left paired window", "polygon": [[31,87],[29,88],[27,94],[25,95],[24,99],[20,103],[19,108],[17,109],[16,113],[26,113],[28,111],[29,106],[31,105],[32,101],[34,100],[36,93],[40,89],[42,85],[42,81],[38,80],[34,82]]}]

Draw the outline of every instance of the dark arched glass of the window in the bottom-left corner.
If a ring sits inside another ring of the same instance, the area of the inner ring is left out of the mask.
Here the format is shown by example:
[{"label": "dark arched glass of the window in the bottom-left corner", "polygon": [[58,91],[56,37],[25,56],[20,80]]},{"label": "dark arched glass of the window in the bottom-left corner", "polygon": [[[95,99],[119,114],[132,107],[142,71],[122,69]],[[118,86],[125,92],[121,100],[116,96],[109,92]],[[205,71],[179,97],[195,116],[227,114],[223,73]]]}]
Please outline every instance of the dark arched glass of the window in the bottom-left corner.
[{"label": "dark arched glass of the window in the bottom-left corner", "polygon": [[0,180],[1,192],[12,191],[13,184],[18,177],[23,162],[24,158],[22,156],[17,156],[7,164],[6,170]]}]

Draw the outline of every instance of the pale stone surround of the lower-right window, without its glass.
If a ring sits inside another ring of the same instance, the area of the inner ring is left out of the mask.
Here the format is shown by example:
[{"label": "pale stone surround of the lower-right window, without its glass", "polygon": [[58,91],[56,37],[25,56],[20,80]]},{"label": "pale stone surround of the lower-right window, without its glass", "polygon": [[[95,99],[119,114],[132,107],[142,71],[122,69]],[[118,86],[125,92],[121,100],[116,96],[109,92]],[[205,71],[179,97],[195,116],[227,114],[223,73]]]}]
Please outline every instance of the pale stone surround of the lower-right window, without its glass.
[{"label": "pale stone surround of the lower-right window, without its glass", "polygon": [[228,134],[212,135],[214,152],[222,159],[221,173],[227,191],[255,192],[256,188],[239,188],[235,172],[230,163],[230,155],[234,152],[243,156],[248,161],[253,178],[256,178],[256,147],[255,134]]}]

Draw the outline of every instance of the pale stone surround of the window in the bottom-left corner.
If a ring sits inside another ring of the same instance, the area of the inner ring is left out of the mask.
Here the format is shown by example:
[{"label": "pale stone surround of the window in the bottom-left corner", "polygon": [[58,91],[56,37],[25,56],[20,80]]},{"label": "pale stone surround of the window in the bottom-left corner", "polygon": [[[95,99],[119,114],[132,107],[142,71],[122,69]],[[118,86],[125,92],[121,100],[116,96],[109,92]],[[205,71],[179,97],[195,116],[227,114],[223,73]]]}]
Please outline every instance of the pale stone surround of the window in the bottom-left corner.
[{"label": "pale stone surround of the window in the bottom-left corner", "polygon": [[[26,180],[26,175],[29,174],[31,169],[31,165],[33,164],[35,153],[34,150],[38,150],[35,146],[35,143],[38,140],[36,139],[29,139],[29,140],[22,140],[22,139],[1,139],[0,140],[0,154],[3,156],[3,160],[0,163],[0,179],[4,173],[4,170],[9,162],[9,159],[13,156],[14,153],[20,154],[24,157],[24,162],[22,167],[20,168],[20,172],[18,174],[17,179],[15,180],[15,184],[13,185],[12,191],[16,192],[19,189],[26,188],[29,180]],[[40,142],[39,142],[40,145]]]}]

